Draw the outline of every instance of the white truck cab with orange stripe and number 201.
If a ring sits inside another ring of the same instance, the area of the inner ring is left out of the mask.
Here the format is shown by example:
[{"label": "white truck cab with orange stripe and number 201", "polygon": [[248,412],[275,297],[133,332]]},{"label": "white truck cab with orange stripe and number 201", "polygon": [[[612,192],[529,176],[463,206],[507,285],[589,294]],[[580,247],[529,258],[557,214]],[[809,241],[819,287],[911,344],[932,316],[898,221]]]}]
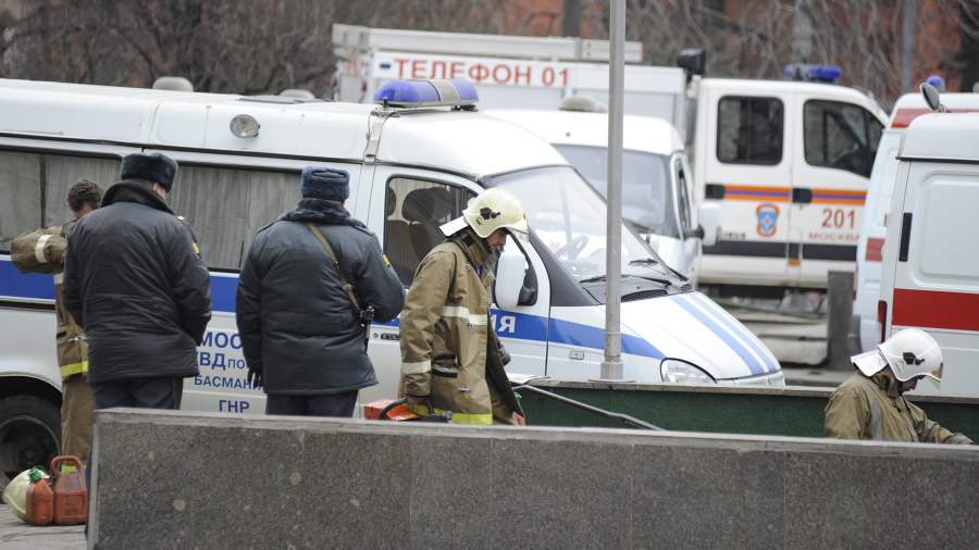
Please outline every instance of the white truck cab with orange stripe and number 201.
[{"label": "white truck cab with orange stripe and number 201", "polygon": [[815,82],[703,78],[693,173],[719,204],[701,280],[825,289],[853,271],[885,116],[867,95]]}]

